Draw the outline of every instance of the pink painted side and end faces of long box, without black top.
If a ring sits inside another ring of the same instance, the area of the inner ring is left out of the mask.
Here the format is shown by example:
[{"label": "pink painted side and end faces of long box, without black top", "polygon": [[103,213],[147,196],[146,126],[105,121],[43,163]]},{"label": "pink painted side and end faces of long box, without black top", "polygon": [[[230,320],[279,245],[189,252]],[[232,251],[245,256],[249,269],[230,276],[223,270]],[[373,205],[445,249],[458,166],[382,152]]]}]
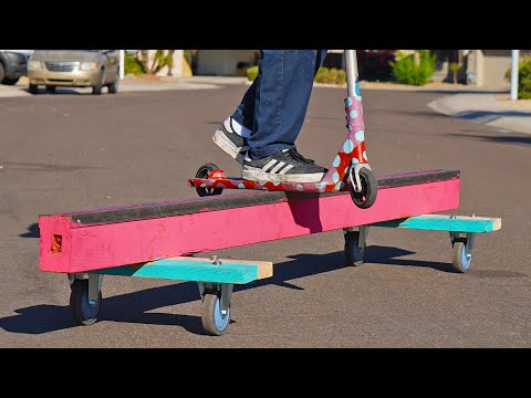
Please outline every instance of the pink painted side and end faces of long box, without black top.
[{"label": "pink painted side and end faces of long box, without black top", "polygon": [[369,209],[358,209],[345,193],[86,227],[66,213],[41,216],[39,268],[86,272],[454,210],[459,187],[455,178],[382,188]]}]

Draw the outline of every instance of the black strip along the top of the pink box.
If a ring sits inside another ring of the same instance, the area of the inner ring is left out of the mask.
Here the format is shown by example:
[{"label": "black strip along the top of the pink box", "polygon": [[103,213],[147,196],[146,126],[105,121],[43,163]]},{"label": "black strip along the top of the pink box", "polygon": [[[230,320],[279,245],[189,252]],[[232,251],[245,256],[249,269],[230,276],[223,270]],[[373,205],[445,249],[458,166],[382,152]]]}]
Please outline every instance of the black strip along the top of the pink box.
[{"label": "black strip along the top of the pink box", "polygon": [[[378,178],[378,187],[394,188],[408,185],[437,182],[459,178],[459,170],[429,170],[416,171],[405,175],[392,175]],[[227,189],[228,191],[229,189]],[[348,191],[342,192],[261,192],[253,195],[227,195],[204,197],[196,200],[152,203],[145,206],[131,206],[115,209],[87,210],[86,212],[63,213],[62,217],[70,217],[72,223],[79,227],[90,224],[127,222],[135,220],[147,220],[163,217],[174,217],[191,214],[204,211],[226,210],[249,206],[271,205],[294,199],[310,199],[327,197],[335,195],[348,195]]]}]

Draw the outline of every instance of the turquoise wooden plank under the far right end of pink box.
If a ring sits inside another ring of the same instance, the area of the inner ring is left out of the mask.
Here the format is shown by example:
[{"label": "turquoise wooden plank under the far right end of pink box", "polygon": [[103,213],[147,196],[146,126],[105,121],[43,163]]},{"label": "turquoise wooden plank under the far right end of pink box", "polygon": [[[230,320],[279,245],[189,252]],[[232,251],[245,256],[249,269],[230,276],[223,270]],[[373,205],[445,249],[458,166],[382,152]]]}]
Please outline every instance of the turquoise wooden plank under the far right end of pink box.
[{"label": "turquoise wooden plank under the far right end of pink box", "polygon": [[408,228],[430,231],[449,231],[449,232],[492,232],[501,227],[500,219],[483,217],[462,217],[457,216],[414,216],[399,220],[391,220],[371,224],[371,227],[387,228]]}]

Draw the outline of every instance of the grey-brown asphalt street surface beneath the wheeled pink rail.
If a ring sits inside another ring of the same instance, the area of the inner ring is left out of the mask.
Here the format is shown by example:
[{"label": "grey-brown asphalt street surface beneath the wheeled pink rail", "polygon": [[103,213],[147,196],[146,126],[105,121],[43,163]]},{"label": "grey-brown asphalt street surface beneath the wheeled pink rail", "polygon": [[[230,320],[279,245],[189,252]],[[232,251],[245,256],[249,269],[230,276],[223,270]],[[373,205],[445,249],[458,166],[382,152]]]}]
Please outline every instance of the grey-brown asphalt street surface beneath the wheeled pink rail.
[{"label": "grey-brown asphalt street surface beneath the wheeled pink rail", "polygon": [[[445,232],[374,228],[366,263],[345,268],[333,231],[205,253],[274,263],[236,290],[222,337],[204,334],[195,283],[119,276],[101,321],[75,326],[66,277],[38,269],[39,214],[194,198],[207,161],[239,175],[211,135],[244,90],[0,100],[0,347],[531,346],[531,136],[436,114],[434,92],[364,92],[367,153],[376,175],[460,169],[455,213],[502,219],[468,274]],[[313,93],[298,145],[322,165],[346,134],[344,95]]]}]

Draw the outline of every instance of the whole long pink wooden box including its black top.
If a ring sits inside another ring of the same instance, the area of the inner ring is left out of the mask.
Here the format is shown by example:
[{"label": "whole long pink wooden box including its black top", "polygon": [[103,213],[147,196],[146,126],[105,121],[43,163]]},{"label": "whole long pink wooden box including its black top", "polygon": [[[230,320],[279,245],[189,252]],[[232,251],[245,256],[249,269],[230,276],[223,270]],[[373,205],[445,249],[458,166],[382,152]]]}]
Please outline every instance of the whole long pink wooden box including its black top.
[{"label": "whole long pink wooden box including its black top", "polygon": [[358,209],[347,192],[235,191],[186,199],[43,214],[40,270],[76,273],[454,210],[459,171],[381,176],[378,198]]}]

